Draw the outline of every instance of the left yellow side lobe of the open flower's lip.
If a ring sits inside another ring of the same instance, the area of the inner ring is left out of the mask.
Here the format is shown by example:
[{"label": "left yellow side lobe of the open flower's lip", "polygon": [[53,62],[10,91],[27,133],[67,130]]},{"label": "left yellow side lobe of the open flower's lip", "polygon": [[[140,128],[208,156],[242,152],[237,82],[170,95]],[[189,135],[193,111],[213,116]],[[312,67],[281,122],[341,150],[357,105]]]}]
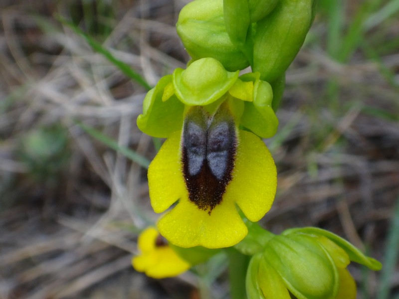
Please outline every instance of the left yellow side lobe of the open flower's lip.
[{"label": "left yellow side lobe of the open flower's lip", "polygon": [[181,170],[180,137],[181,131],[173,133],[148,168],[151,205],[156,213],[164,212],[187,193]]}]

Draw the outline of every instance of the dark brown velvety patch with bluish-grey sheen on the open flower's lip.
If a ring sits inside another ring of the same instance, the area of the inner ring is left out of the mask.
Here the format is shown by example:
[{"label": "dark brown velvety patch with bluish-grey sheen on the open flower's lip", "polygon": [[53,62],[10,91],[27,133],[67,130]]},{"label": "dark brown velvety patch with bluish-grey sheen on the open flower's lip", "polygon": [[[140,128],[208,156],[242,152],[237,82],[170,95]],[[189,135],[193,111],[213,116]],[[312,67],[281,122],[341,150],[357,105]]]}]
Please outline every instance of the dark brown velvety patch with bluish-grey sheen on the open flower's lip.
[{"label": "dark brown velvety patch with bluish-grey sheen on the open flower's lip", "polygon": [[183,127],[183,174],[189,199],[208,213],[222,201],[232,179],[237,136],[228,109],[213,117],[200,106],[187,114]]}]

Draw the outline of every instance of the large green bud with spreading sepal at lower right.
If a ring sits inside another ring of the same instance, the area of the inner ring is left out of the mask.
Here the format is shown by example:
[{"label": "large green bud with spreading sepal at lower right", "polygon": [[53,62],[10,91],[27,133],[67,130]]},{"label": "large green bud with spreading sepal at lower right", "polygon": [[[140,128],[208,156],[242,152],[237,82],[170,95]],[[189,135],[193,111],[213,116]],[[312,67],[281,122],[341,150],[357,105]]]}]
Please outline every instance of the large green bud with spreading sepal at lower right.
[{"label": "large green bud with spreading sepal at lower right", "polygon": [[290,299],[290,294],[297,299],[355,299],[349,263],[381,269],[375,259],[319,228],[294,228],[276,236],[257,224],[246,225],[248,235],[235,248],[253,255],[246,276],[249,299]]}]

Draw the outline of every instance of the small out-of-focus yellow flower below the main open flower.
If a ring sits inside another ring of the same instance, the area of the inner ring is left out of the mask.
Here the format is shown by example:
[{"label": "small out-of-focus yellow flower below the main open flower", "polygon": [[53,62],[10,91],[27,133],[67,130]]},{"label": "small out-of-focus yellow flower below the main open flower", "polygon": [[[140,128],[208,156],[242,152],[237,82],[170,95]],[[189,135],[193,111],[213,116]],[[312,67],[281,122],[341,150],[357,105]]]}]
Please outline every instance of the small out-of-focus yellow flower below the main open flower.
[{"label": "small out-of-focus yellow flower below the main open flower", "polygon": [[132,265],[138,272],[160,279],[177,276],[191,265],[180,258],[154,227],[145,229],[139,236],[140,255],[133,257]]}]

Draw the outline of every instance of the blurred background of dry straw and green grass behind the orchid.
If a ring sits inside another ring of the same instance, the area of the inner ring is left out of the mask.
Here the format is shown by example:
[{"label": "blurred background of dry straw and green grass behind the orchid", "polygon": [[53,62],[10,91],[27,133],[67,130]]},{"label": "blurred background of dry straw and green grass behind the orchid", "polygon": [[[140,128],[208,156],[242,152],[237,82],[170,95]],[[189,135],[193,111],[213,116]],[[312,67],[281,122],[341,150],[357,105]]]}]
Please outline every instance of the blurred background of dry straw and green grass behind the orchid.
[{"label": "blurred background of dry straw and green grass behind the orchid", "polygon": [[[0,0],[1,299],[228,298],[223,255],[158,281],[130,265],[163,142],[137,129],[142,80],[185,67],[187,2]],[[322,227],[383,262],[351,264],[362,299],[399,299],[398,16],[398,0],[319,0],[265,141],[262,225]]]}]

